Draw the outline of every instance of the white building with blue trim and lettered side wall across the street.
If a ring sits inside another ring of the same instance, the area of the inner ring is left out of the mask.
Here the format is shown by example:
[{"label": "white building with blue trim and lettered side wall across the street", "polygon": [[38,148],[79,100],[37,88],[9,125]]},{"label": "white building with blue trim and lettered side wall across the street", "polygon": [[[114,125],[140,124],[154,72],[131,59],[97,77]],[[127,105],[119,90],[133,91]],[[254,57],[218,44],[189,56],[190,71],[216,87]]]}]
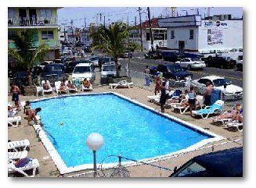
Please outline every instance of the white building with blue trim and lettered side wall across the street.
[{"label": "white building with blue trim and lettered side wall across the street", "polygon": [[243,18],[218,15],[202,19],[200,15],[158,19],[167,30],[167,50],[204,53],[243,48]]}]

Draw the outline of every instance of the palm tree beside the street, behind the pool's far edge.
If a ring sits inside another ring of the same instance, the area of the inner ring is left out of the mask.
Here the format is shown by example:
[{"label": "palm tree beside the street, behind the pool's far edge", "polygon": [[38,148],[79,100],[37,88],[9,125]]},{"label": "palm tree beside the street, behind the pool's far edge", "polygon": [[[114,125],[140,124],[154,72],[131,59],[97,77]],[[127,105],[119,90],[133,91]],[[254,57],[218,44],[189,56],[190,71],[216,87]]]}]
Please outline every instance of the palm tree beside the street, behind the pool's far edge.
[{"label": "palm tree beside the street, behind the pool's far edge", "polygon": [[124,53],[128,41],[128,30],[125,23],[116,22],[109,27],[99,27],[91,35],[93,38],[93,49],[99,48],[114,57],[117,77],[120,76],[118,69],[118,57]]}]

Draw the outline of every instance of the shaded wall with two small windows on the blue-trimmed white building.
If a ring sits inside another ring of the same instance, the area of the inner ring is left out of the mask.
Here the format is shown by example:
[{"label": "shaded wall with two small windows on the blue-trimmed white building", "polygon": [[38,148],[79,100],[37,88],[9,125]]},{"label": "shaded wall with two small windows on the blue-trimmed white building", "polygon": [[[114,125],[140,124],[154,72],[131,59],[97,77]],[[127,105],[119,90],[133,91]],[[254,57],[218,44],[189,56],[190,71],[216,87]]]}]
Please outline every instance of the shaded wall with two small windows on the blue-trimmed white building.
[{"label": "shaded wall with two small windows on the blue-trimmed white building", "polygon": [[[175,31],[175,38],[171,39],[171,30]],[[189,30],[194,30],[193,39],[189,39]],[[168,48],[178,49],[178,41],[185,41],[185,50],[197,50],[197,27],[168,28]]]}]

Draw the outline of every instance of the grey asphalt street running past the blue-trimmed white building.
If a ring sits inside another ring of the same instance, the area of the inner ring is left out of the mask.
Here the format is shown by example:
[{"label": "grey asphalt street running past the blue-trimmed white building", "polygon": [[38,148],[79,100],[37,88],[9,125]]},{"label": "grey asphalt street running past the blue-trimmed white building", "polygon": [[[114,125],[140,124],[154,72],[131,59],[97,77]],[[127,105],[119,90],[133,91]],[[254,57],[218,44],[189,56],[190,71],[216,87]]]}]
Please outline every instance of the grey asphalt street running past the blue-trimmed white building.
[{"label": "grey asphalt street running past the blue-trimmed white building", "polygon": [[[142,72],[145,69],[145,66],[157,66],[163,63],[170,63],[164,61],[163,59],[144,59],[144,53],[135,53],[134,58],[131,59],[130,67],[132,70]],[[125,67],[128,59],[120,60],[123,68]],[[207,67],[204,70],[193,70],[189,71],[193,73],[193,79],[198,79],[202,76],[223,76],[228,80],[231,80],[233,84],[243,87],[243,72],[236,71],[236,69],[218,69],[214,67]]]}]

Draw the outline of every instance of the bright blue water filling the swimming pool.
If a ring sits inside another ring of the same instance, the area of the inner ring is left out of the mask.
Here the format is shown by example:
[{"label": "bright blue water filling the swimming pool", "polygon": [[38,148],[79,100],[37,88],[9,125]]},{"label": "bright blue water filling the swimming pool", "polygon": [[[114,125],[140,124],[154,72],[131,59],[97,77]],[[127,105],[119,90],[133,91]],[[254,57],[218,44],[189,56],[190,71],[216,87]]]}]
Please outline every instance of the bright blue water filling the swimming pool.
[{"label": "bright blue water filling the swimming pool", "polygon": [[[114,94],[31,103],[31,108],[37,107],[42,109],[38,115],[51,136],[49,140],[67,167],[93,162],[92,151],[85,145],[90,133],[104,137],[104,145],[97,151],[98,162],[110,154],[136,160],[153,158],[210,137]],[[117,162],[117,158],[107,158],[104,162]]]}]

